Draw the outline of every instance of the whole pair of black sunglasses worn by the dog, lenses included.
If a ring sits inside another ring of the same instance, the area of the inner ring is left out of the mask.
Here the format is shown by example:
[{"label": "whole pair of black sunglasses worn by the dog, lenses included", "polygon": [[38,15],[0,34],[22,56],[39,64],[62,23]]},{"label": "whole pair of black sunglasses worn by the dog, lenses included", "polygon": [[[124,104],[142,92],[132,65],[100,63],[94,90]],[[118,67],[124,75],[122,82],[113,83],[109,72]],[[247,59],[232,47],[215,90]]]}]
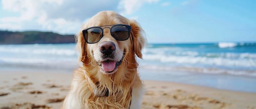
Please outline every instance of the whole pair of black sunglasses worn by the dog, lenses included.
[{"label": "whole pair of black sunglasses worn by the dog, lenses included", "polygon": [[[110,28],[110,33],[118,41],[127,40],[130,36],[131,26],[124,24],[115,24],[115,25],[105,25],[111,26],[105,27]],[[83,30],[83,38],[88,44],[97,43],[103,37],[102,26],[94,26]]]}]

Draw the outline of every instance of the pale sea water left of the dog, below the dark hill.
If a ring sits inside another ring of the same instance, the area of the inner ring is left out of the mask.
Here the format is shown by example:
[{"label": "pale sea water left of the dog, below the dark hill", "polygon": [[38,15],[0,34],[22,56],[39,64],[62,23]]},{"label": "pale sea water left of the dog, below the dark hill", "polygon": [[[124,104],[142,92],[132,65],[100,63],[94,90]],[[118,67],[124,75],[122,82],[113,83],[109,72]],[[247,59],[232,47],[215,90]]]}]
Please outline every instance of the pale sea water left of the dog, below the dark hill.
[{"label": "pale sea water left of the dog, below the dark hill", "polygon": [[0,45],[0,70],[63,71],[77,68],[75,44]]}]

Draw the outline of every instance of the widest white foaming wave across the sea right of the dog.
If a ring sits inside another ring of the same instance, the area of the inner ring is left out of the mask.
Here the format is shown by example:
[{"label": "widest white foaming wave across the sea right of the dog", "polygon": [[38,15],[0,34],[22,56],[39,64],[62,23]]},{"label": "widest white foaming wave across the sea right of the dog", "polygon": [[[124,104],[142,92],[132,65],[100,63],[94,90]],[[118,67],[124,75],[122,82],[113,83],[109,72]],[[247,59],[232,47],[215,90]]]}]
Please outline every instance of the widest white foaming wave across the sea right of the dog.
[{"label": "widest white foaming wave across the sea right of the dog", "polygon": [[255,67],[252,62],[256,62],[256,59],[230,59],[222,57],[191,57],[191,56],[162,56],[162,55],[144,55],[145,61],[158,61],[159,63],[172,63],[183,65],[212,65],[212,66],[227,66],[227,67]]}]

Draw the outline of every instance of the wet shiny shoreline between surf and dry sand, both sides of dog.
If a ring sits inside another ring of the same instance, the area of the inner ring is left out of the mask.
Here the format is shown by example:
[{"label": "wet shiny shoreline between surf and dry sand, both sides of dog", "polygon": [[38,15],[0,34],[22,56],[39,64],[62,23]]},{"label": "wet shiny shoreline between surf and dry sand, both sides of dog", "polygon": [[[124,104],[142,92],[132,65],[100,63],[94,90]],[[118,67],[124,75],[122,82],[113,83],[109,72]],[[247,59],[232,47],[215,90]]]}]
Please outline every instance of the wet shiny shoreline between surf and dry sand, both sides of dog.
[{"label": "wet shiny shoreline between surf and dry sand, both sides of dog", "polygon": [[[29,72],[29,73],[45,73],[52,72],[58,74],[72,74],[76,68],[31,68],[31,69],[5,69],[2,72]],[[166,81],[174,83],[182,83],[188,85],[198,85],[211,87],[215,89],[223,89],[238,92],[256,93],[256,76],[232,75],[232,74],[211,74],[202,72],[188,72],[176,70],[152,70],[139,68],[139,76],[143,80]]]}]

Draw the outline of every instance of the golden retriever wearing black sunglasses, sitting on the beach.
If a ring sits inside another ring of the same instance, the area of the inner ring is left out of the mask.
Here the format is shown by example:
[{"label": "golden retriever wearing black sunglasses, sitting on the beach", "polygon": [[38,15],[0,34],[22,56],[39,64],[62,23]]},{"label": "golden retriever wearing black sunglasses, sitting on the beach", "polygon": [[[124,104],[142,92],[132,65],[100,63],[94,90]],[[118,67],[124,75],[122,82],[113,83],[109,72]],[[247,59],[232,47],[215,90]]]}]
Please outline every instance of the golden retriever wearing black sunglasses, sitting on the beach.
[{"label": "golden retriever wearing black sunglasses, sitting on the beach", "polygon": [[146,35],[135,20],[101,11],[76,35],[79,68],[63,109],[139,109],[143,82],[137,58]]}]

